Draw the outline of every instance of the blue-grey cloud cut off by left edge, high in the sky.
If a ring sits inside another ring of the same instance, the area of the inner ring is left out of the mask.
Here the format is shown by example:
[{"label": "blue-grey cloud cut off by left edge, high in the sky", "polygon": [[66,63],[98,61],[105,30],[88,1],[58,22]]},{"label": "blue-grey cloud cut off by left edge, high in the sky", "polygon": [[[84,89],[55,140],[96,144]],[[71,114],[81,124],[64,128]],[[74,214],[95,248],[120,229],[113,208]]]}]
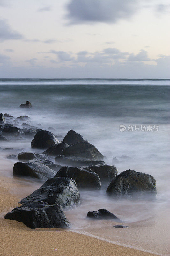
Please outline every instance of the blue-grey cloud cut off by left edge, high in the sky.
[{"label": "blue-grey cloud cut off by left edge, high in the sky", "polygon": [[22,39],[23,35],[14,31],[7,24],[6,20],[0,20],[0,42],[5,40],[18,40]]}]

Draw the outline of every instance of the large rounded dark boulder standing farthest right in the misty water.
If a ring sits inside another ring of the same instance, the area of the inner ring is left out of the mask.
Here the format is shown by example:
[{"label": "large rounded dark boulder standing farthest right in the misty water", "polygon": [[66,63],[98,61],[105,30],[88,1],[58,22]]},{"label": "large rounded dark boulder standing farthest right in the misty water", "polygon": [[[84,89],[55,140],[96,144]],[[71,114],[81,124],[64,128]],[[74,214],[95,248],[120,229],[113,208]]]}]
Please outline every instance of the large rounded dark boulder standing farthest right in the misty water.
[{"label": "large rounded dark boulder standing farthest right in the misty water", "polygon": [[146,173],[126,170],[111,181],[107,194],[115,199],[156,198],[156,181]]}]

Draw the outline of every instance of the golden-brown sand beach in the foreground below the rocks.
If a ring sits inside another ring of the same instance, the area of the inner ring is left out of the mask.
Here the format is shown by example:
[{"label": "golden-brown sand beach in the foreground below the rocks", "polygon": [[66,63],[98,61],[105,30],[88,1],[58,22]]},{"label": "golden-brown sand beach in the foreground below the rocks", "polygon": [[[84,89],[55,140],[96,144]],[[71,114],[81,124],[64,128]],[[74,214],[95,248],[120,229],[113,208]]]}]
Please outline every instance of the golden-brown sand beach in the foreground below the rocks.
[{"label": "golden-brown sand beach in the foreground below the rocks", "polygon": [[12,187],[15,187],[14,183],[11,177],[0,177],[1,256],[161,255],[126,247],[122,244],[115,244],[107,239],[100,239],[100,237],[90,234],[81,234],[81,232],[63,229],[48,230],[42,228],[41,230],[33,230],[26,227],[22,222],[3,219],[5,212],[18,206],[19,197],[11,192]]}]

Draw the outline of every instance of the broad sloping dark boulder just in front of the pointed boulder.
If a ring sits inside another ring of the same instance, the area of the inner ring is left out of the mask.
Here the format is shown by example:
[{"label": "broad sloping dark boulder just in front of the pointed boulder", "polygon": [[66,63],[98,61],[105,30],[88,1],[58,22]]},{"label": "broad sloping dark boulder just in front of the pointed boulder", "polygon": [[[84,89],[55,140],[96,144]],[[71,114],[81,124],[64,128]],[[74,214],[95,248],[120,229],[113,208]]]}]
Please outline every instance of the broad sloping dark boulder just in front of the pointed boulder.
[{"label": "broad sloping dark boulder just in front of the pointed boulder", "polygon": [[85,157],[90,160],[103,160],[104,156],[88,141],[78,142],[63,150],[64,156]]}]

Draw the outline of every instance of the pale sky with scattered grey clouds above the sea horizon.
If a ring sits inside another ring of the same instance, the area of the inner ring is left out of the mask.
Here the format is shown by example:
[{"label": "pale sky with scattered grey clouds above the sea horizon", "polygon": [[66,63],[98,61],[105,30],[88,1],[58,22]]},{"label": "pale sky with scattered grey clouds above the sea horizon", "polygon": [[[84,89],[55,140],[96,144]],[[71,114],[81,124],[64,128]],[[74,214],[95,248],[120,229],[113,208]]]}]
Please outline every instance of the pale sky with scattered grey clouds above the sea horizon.
[{"label": "pale sky with scattered grey clouds above the sea horizon", "polygon": [[169,0],[0,0],[1,78],[170,78]]}]

